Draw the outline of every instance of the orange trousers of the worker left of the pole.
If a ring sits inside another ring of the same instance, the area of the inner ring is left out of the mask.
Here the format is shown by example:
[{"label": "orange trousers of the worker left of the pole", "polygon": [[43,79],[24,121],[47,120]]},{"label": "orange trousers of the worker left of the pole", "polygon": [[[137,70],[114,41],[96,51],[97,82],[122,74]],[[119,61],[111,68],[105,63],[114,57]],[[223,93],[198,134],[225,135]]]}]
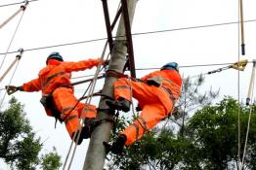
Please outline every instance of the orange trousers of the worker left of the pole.
[{"label": "orange trousers of the worker left of the pole", "polygon": [[71,88],[57,88],[53,92],[53,99],[57,109],[61,112],[61,119],[64,119],[65,128],[71,139],[74,132],[81,128],[80,117],[82,119],[96,118],[96,106],[78,102]]}]

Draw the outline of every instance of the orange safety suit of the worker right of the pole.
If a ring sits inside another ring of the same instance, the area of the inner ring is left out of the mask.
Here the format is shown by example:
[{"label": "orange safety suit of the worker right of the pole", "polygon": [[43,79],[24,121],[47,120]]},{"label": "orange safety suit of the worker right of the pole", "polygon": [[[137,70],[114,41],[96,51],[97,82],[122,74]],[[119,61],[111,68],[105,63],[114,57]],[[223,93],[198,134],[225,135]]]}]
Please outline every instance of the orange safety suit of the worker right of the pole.
[{"label": "orange safety suit of the worker right of the pole", "polygon": [[[160,85],[148,85],[147,81],[151,78],[161,80]],[[182,78],[175,70],[155,71],[143,77],[142,81],[119,78],[114,83],[115,100],[122,97],[131,101],[130,89],[132,88],[132,95],[138,100],[139,107],[142,109],[139,118],[121,132],[127,138],[126,146],[142,138],[145,132],[168,117],[181,93]]]}]

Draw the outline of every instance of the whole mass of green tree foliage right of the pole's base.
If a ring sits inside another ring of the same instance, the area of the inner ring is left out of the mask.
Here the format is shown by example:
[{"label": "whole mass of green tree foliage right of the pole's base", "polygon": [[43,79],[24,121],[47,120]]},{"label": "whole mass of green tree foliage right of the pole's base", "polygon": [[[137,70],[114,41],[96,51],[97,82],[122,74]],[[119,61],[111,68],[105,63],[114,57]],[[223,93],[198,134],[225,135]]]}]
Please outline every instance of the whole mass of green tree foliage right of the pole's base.
[{"label": "whole mass of green tree foliage right of the pole's base", "polygon": [[[255,107],[252,113],[255,113]],[[225,97],[217,105],[206,105],[189,119],[184,136],[165,127],[149,132],[126,148],[123,155],[111,155],[109,169],[235,169],[237,168],[237,116],[240,118],[240,157],[250,108]],[[256,169],[256,116],[252,115],[244,167]],[[160,130],[160,131],[158,131]]]}]

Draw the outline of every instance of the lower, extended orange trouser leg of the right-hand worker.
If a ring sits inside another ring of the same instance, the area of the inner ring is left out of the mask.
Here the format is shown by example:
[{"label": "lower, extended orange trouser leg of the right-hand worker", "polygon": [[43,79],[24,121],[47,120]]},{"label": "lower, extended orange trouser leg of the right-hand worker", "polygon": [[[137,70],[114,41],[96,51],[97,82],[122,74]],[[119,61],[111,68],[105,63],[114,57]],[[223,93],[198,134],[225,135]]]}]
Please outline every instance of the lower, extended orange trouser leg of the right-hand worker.
[{"label": "lower, extended orange trouser leg of the right-hand worker", "polygon": [[126,136],[126,146],[130,146],[151,130],[160,120],[167,117],[166,109],[162,104],[145,105],[138,119],[129,125],[121,134]]}]

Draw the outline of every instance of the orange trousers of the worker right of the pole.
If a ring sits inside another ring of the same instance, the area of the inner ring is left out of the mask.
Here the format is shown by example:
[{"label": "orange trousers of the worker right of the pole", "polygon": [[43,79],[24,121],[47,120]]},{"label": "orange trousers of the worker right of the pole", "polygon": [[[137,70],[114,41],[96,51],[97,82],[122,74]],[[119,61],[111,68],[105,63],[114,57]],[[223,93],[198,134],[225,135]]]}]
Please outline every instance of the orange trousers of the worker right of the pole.
[{"label": "orange trousers of the worker right of the pole", "polygon": [[[160,120],[165,119],[173,108],[172,100],[162,87],[129,81],[126,78],[118,79],[114,83],[115,100],[122,97],[131,101],[131,88],[132,95],[138,100],[142,112],[133,124],[130,124],[121,132],[127,137],[126,146],[130,146],[138,139],[141,139]],[[170,103],[166,105],[163,104],[163,101]]]}]

